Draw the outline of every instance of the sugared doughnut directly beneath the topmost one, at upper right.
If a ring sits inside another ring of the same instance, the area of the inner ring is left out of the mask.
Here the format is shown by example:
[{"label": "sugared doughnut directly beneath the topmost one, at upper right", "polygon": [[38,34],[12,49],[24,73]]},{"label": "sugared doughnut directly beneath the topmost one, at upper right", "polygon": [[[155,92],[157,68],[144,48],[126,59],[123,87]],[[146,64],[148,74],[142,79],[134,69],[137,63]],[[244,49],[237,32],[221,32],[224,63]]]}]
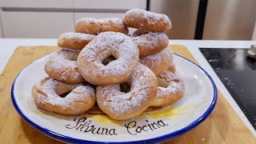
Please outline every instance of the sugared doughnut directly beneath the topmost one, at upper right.
[{"label": "sugared doughnut directly beneath the topmost one, at upper right", "polygon": [[165,33],[150,32],[131,38],[138,46],[140,57],[156,54],[169,44],[169,38]]}]

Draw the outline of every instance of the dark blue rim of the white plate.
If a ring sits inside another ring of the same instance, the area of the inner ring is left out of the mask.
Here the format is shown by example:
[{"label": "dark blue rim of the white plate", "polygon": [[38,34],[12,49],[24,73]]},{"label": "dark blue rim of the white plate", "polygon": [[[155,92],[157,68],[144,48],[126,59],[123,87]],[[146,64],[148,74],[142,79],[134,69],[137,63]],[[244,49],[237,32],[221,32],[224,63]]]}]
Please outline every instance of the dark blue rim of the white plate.
[{"label": "dark blue rim of the white plate", "polygon": [[[175,54],[178,57],[184,58],[179,54]],[[184,58],[187,61],[193,63],[195,66],[198,66],[196,63],[190,61],[190,59]],[[26,114],[24,114],[22,112],[22,110],[20,110],[20,108],[17,105],[16,99],[14,98],[14,86],[15,86],[15,82],[16,79],[18,78],[18,76],[15,78],[14,83],[12,85],[11,88],[11,98],[12,98],[12,102],[14,104],[15,109],[17,110],[18,114],[21,115],[21,117],[28,122],[31,126],[33,126],[35,129],[39,130],[40,132],[42,132],[43,134],[46,134],[47,136],[57,139],[58,141],[62,141],[62,142],[71,142],[71,143],[84,143],[84,142],[93,142],[93,143],[147,143],[147,142],[166,142],[170,139],[176,138],[182,134],[185,134],[186,132],[192,130],[194,127],[198,126],[201,122],[203,122],[208,116],[209,114],[214,110],[214,106],[216,105],[217,102],[217,97],[218,97],[218,93],[217,93],[217,88],[215,86],[214,80],[210,77],[210,75],[206,72],[206,70],[202,69],[201,66],[198,66],[198,68],[200,70],[202,70],[207,77],[210,79],[210,82],[212,83],[212,86],[214,88],[214,98],[213,101],[210,103],[210,106],[208,107],[208,109],[206,110],[206,112],[204,114],[202,114],[199,118],[197,118],[196,120],[194,120],[194,122],[191,122],[188,126],[183,127],[180,130],[176,130],[174,132],[171,132],[170,134],[164,134],[162,136],[156,137],[156,138],[148,138],[148,139],[143,139],[143,140],[139,140],[139,141],[126,141],[126,142],[95,142],[95,141],[90,141],[90,140],[85,140],[85,139],[78,139],[78,138],[71,138],[62,134],[58,134],[52,130],[48,130],[43,126],[38,125],[36,122],[32,121],[30,118],[26,117]],[[23,70],[22,70],[23,71]],[[21,73],[22,73],[21,71]],[[18,74],[19,75],[19,74]]]}]

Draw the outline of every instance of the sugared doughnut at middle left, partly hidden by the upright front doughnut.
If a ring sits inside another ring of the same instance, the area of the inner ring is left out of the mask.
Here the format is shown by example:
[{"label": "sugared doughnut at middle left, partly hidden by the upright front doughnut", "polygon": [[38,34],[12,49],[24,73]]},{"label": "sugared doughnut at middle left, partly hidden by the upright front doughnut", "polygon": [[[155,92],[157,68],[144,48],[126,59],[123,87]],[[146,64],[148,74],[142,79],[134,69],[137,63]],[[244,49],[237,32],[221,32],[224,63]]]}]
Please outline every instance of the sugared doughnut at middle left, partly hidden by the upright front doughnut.
[{"label": "sugared doughnut at middle left, partly hidden by the upright front doughnut", "polygon": [[49,59],[45,65],[45,71],[58,81],[67,83],[82,83],[84,78],[78,72],[76,60],[79,51],[62,49]]}]

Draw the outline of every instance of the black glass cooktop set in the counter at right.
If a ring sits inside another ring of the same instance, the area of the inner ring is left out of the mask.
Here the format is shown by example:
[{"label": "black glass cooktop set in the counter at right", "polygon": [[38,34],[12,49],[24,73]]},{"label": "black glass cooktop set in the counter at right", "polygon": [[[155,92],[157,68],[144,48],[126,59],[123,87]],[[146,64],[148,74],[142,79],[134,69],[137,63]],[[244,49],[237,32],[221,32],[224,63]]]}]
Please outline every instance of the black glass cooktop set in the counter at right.
[{"label": "black glass cooktop set in the counter at right", "polygon": [[199,48],[256,130],[256,60],[248,49]]}]

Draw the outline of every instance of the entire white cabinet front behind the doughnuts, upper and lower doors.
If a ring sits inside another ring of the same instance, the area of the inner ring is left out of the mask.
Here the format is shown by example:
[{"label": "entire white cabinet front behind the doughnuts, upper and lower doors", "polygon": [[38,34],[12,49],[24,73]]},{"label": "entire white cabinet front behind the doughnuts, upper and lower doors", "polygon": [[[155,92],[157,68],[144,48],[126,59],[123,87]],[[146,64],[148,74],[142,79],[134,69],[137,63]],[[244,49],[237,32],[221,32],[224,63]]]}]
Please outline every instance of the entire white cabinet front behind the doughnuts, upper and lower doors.
[{"label": "entire white cabinet front behind the doughnuts, upper and lower doors", "polygon": [[80,18],[122,18],[132,8],[146,10],[146,0],[0,0],[0,37],[58,38]]}]

